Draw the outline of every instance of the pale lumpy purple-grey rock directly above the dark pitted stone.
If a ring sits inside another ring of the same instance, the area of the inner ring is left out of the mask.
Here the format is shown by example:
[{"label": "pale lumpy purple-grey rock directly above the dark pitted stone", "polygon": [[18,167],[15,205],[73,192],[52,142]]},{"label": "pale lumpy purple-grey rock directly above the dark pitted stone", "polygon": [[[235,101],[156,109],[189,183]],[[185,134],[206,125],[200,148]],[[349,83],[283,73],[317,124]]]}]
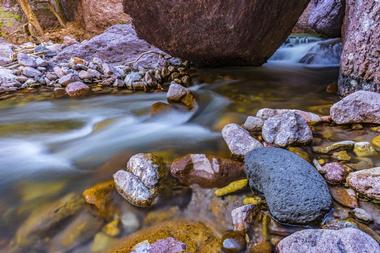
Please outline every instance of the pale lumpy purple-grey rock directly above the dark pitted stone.
[{"label": "pale lumpy purple-grey rock directly above the dark pitted stone", "polygon": [[267,119],[262,134],[266,142],[280,147],[307,144],[313,140],[306,120],[295,112],[285,112]]}]

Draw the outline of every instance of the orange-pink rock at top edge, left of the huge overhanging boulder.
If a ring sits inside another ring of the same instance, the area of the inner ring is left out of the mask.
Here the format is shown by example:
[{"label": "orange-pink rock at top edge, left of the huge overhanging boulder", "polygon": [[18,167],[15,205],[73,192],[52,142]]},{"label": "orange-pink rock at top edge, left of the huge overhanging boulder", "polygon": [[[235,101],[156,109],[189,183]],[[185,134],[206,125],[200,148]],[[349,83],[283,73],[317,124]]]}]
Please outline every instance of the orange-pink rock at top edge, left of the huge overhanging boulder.
[{"label": "orange-pink rock at top edge, left of the huge overhanging boulder", "polygon": [[112,25],[131,21],[123,11],[123,0],[82,0],[81,8],[85,29],[91,33],[101,33]]}]

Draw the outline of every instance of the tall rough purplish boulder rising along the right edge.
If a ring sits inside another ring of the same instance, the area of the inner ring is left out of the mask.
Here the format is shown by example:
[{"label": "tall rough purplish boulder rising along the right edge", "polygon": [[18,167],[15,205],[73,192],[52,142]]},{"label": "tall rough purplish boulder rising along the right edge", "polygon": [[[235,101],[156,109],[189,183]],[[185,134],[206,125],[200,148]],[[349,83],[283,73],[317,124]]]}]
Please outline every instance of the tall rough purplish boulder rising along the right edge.
[{"label": "tall rough purplish boulder rising along the right edge", "polygon": [[338,91],[380,92],[380,2],[346,1]]}]

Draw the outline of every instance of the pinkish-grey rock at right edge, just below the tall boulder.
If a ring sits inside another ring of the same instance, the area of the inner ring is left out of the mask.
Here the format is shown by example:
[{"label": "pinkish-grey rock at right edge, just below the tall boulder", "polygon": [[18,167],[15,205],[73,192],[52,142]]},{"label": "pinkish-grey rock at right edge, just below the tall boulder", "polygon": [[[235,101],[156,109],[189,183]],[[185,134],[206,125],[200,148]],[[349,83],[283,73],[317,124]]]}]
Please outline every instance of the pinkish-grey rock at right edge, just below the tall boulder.
[{"label": "pinkish-grey rock at right edge, just below the tall boulder", "polygon": [[330,114],[337,124],[380,124],[380,94],[357,91],[335,103],[330,109]]}]

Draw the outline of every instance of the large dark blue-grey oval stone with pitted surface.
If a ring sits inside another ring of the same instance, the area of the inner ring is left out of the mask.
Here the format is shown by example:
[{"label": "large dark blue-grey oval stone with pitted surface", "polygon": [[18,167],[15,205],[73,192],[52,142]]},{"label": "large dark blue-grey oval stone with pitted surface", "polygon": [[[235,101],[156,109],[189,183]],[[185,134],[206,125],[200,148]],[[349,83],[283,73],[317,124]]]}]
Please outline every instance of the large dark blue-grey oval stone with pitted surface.
[{"label": "large dark blue-grey oval stone with pitted surface", "polygon": [[260,148],[245,156],[251,189],[264,194],[272,216],[281,223],[307,224],[332,205],[327,184],[301,157],[280,148]]}]

